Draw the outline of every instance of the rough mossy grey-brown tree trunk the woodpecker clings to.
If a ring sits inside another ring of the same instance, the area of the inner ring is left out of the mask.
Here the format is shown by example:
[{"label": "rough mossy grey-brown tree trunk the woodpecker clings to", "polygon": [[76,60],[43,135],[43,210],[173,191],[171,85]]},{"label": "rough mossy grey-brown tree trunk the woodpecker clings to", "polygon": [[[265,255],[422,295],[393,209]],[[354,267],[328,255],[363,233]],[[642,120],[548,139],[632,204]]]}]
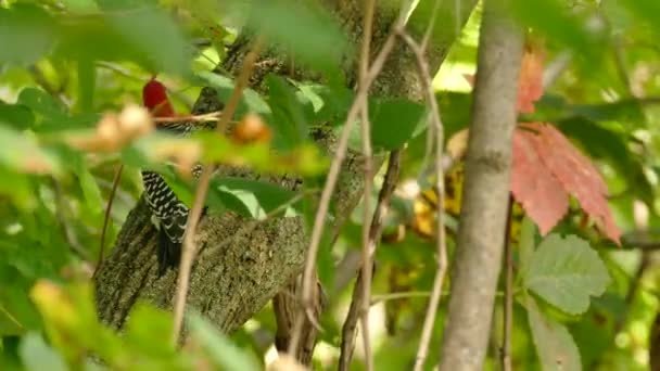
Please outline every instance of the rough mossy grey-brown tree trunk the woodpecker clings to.
[{"label": "rough mossy grey-brown tree trunk the woodpecker clings to", "polygon": [[[361,36],[361,1],[318,0],[335,14],[345,26],[355,46]],[[423,2],[423,1],[422,1]],[[436,71],[449,46],[471,13],[475,0],[462,0],[460,16],[452,12],[454,1],[444,1],[437,27],[444,29],[429,46],[430,66]],[[377,11],[372,50],[378,51],[389,33],[398,9]],[[460,20],[457,26],[455,20]],[[410,25],[415,26],[415,25]],[[420,36],[423,24],[410,28]],[[248,37],[239,37],[224,61],[224,69],[236,73],[249,51]],[[329,46],[331,47],[331,46]],[[283,53],[269,48],[256,64],[250,81],[261,90],[262,80],[268,73],[291,76],[290,64]],[[357,61],[344,61],[344,74],[353,87],[357,76]],[[339,63],[339,61],[338,61]],[[308,71],[295,71],[297,79],[314,79]],[[372,93],[385,97],[405,97],[421,101],[422,90],[411,53],[397,43],[381,77],[375,82]],[[202,90],[194,105],[194,113],[206,113],[218,107],[217,95],[211,88]],[[316,143],[328,154],[333,153],[335,138],[331,130],[317,129],[310,133]],[[380,163],[378,163],[380,164]],[[378,165],[377,164],[377,165]],[[257,175],[242,169],[221,169],[225,175],[259,178],[296,190],[300,181],[268,175]],[[330,228],[339,230],[361,196],[361,159],[358,153],[348,153],[335,191],[335,207],[331,212]],[[193,307],[220,331],[231,332],[263,308],[280,290],[285,287],[302,270],[307,238],[301,218],[276,218],[258,223],[248,235],[236,235],[246,222],[227,213],[205,217],[195,238],[199,255],[192,267],[188,307]],[[129,214],[122,228],[115,247],[101,267],[97,278],[97,304],[100,318],[122,328],[137,300],[147,300],[170,310],[176,287],[176,271],[157,278],[155,258],[156,233],[150,222],[150,214],[141,200]]]}]

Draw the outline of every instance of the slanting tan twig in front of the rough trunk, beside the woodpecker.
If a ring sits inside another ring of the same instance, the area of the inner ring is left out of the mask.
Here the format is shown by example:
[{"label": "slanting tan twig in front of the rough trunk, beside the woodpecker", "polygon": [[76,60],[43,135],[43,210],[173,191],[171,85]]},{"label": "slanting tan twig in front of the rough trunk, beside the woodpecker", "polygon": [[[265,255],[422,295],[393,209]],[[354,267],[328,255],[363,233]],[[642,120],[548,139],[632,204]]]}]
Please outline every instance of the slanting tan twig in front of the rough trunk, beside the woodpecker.
[{"label": "slanting tan twig in front of the rough trunk, beside the woodpecker", "polygon": [[[233,87],[233,91],[231,92],[229,102],[227,102],[227,106],[224,110],[225,114],[221,115],[218,126],[216,128],[221,133],[225,132],[225,128],[227,127],[229,119],[233,116],[233,113],[236,112],[236,108],[239,105],[242,91],[245,86],[248,86],[248,80],[252,75],[252,69],[258,56],[263,41],[263,38],[259,37],[255,41],[252,50],[248,53],[248,55],[245,55],[241,73],[236,80],[236,86]],[[190,269],[192,267],[192,260],[194,259],[194,255],[196,253],[196,246],[194,245],[194,232],[202,215],[202,206],[204,205],[204,201],[206,200],[206,192],[208,191],[208,183],[211,181],[211,174],[213,172],[213,170],[214,166],[207,165],[205,166],[204,171],[202,172],[202,178],[200,179],[200,182],[195,190],[194,203],[188,215],[186,231],[183,233],[181,263],[179,265],[177,292],[174,305],[174,331],[172,341],[175,344],[178,341],[179,334],[181,332],[181,324],[183,322],[183,310],[186,308],[186,296],[188,295],[188,281],[190,279]]]}]

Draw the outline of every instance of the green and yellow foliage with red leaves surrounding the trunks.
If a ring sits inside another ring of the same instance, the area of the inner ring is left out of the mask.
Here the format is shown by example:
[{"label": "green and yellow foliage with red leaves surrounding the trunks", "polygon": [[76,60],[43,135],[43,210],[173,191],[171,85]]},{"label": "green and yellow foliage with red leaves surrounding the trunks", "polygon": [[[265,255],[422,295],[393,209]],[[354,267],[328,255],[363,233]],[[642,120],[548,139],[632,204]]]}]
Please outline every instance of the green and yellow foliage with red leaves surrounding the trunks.
[{"label": "green and yellow foliage with red leaves surrounding the trunks", "polygon": [[[162,172],[189,205],[195,183],[186,169],[199,161],[295,174],[305,179],[301,193],[265,181],[215,178],[206,205],[211,213],[246,219],[263,220],[274,212],[312,219],[310,195],[318,193],[331,157],[309,132],[317,123],[342,130],[355,91],[346,88],[337,61],[358,51],[325,9],[292,2],[263,2],[253,11],[257,5],[242,1],[0,1],[2,369],[257,370],[272,360],[270,306],[233,334],[220,334],[192,310],[190,342],[177,349],[167,341],[172,314],[147,303],[135,308],[122,333],[101,323],[91,274],[142,193],[140,169]],[[419,1],[410,22],[432,4]],[[512,364],[566,370],[660,364],[660,353],[653,353],[660,345],[655,253],[660,246],[660,5],[655,0],[515,0],[508,11],[529,31],[507,240],[516,276]],[[454,162],[441,210],[449,261],[481,15],[478,5],[433,80],[446,156]],[[432,37],[442,33],[439,28]],[[266,35],[296,64],[322,74],[323,82],[272,74],[263,91],[245,89],[234,119],[256,127],[256,133],[174,138],[156,132],[157,123],[141,107],[143,85],[154,76],[162,81],[181,117],[190,117],[203,87],[226,102],[234,76],[216,66],[244,29]],[[429,171],[428,116],[423,102],[369,95],[375,152],[405,146],[376,253],[371,342],[377,370],[411,367],[436,271],[437,194]],[[350,146],[361,151],[358,128]],[[119,164],[124,170],[105,234],[104,212]],[[383,174],[384,168],[367,195],[371,207]],[[337,245],[319,252],[319,278],[330,304],[314,357],[318,369],[337,368],[355,274],[341,268],[359,254],[361,214],[360,204]],[[429,364],[436,362],[447,295],[433,328]],[[498,368],[504,296],[500,282],[488,369]],[[355,369],[364,368],[359,343]]]}]

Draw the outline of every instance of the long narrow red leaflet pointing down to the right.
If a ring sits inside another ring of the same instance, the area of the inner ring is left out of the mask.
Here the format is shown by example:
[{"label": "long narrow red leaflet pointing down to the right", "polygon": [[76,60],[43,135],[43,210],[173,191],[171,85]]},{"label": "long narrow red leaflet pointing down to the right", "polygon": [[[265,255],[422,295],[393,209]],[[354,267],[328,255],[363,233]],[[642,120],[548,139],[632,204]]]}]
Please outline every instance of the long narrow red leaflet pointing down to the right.
[{"label": "long narrow red leaflet pointing down to the right", "polygon": [[524,127],[536,131],[536,135],[530,132],[525,138],[536,149],[549,174],[578,200],[608,238],[620,243],[621,231],[607,203],[607,184],[592,162],[553,125],[525,123]]}]

